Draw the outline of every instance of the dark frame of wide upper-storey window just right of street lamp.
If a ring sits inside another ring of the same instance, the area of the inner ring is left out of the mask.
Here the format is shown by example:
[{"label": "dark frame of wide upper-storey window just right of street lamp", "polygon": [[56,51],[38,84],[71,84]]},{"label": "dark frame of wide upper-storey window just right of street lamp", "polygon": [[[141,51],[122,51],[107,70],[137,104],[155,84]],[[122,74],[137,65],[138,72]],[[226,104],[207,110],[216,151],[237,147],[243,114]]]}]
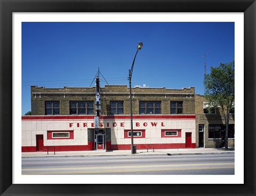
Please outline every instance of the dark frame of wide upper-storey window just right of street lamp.
[{"label": "dark frame of wide upper-storey window just right of street lamp", "polygon": [[[153,107],[150,107],[150,104],[152,104],[152,103],[153,103]],[[141,107],[142,104],[144,104],[144,107]],[[160,104],[160,107],[157,107],[156,104]],[[145,110],[145,112],[144,113],[141,112],[142,110]],[[160,112],[156,112],[157,110],[159,110]],[[151,111],[151,113],[149,111]],[[142,114],[142,115],[162,114],[162,102],[161,101],[140,101],[139,102],[139,114]]]}]

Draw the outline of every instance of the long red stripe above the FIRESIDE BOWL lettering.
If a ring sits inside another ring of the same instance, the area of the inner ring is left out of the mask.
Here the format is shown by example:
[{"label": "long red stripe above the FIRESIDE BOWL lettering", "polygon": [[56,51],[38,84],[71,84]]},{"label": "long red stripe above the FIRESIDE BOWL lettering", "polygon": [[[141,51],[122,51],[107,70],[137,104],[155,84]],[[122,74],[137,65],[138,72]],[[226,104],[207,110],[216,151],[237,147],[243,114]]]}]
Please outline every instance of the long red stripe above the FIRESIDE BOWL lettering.
[{"label": "long red stripe above the FIRESIDE BOWL lettering", "polygon": [[[163,120],[163,119],[175,119],[175,120],[195,120],[196,115],[133,115],[134,120]],[[131,115],[113,115],[113,116],[100,116],[102,120],[130,120]],[[92,115],[61,115],[61,116],[21,116],[22,121],[26,120],[94,120]]]}]

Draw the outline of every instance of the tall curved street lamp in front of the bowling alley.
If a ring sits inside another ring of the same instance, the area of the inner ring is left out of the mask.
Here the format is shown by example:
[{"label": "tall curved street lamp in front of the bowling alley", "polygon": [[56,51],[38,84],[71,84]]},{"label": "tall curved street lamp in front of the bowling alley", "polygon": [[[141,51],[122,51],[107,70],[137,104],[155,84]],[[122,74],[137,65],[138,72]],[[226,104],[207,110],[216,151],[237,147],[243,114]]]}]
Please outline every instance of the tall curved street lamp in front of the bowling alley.
[{"label": "tall curved street lamp in front of the bowling alley", "polygon": [[132,67],[129,70],[129,87],[130,87],[130,103],[131,103],[131,150],[132,150],[132,154],[134,154],[133,152],[133,123],[132,123],[132,71],[133,71],[133,65],[134,65],[134,61],[135,58],[137,56],[138,51],[142,48],[143,44],[142,42],[139,42],[137,44],[137,52],[134,56],[133,62],[132,62]]}]

